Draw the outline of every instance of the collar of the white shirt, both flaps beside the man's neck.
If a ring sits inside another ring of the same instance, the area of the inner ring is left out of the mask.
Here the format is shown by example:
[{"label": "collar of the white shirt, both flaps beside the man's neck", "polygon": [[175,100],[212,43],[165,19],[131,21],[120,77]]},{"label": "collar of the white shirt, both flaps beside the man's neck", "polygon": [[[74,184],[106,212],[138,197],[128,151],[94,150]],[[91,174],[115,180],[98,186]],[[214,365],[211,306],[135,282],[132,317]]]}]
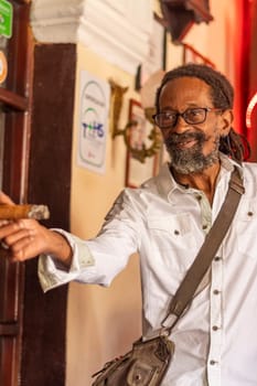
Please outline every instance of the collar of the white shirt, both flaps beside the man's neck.
[{"label": "collar of the white shirt, both flaps beside the man's neck", "polygon": [[[242,165],[239,165],[236,161],[232,160],[224,153],[219,152],[219,159],[221,159],[221,172],[218,175],[218,181],[226,175],[227,173],[231,173],[235,167],[239,169],[239,172],[242,173]],[[156,176],[156,183],[158,186],[159,193],[168,199],[168,195],[170,195],[174,190],[181,189],[181,185],[179,185],[173,175],[170,172],[170,164],[169,162],[164,163],[159,174]]]}]

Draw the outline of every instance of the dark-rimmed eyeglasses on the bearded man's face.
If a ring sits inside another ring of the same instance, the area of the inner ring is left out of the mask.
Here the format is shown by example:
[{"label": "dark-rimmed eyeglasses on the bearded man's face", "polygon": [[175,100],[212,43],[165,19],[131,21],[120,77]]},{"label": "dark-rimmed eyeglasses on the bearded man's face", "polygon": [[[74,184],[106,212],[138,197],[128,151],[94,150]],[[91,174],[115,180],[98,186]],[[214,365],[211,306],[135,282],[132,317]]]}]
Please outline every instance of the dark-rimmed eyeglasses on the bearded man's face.
[{"label": "dark-rimmed eyeglasses on the bearded man's face", "polygon": [[195,107],[188,108],[183,112],[178,111],[163,111],[152,116],[156,125],[160,129],[168,129],[175,127],[179,117],[182,117],[189,125],[203,124],[206,119],[207,112],[221,111],[221,108],[211,107]]}]

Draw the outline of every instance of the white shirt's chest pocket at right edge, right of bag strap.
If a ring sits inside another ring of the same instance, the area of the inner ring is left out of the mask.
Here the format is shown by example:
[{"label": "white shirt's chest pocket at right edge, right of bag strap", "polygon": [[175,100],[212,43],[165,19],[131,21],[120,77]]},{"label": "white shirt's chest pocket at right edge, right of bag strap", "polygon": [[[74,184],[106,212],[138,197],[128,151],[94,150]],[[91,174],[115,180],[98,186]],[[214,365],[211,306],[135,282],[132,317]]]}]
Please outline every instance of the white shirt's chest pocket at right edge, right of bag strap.
[{"label": "white shirt's chest pocket at right edge, right of bag strap", "polygon": [[235,221],[237,250],[257,259],[257,200],[244,202]]}]

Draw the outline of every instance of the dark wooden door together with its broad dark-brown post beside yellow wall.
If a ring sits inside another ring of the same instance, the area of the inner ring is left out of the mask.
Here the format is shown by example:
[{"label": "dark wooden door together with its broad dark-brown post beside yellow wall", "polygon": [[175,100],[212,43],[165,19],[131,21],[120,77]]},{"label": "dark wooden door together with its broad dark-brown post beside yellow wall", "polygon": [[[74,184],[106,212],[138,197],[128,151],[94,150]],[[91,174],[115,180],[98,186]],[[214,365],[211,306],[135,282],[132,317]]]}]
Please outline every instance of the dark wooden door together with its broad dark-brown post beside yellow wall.
[{"label": "dark wooden door together with its broad dark-brown post beside yellow wall", "polygon": [[[12,36],[0,35],[8,62],[0,83],[0,189],[17,203],[47,204],[45,225],[68,230],[76,46],[36,44],[30,0],[10,2]],[[67,287],[44,294],[36,265],[0,257],[0,386],[65,384]]]}]

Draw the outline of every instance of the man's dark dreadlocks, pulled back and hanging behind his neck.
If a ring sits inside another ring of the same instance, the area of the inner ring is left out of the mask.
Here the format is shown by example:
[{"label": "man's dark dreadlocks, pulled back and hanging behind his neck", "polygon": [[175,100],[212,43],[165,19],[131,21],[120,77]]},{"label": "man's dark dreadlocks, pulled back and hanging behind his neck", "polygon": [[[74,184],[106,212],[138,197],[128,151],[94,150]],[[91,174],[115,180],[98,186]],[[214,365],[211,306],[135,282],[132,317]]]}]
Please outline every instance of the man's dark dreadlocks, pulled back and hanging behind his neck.
[{"label": "man's dark dreadlocks, pulled back and hanging behind his neck", "polygon": [[[190,63],[171,69],[164,75],[161,86],[158,88],[156,95],[157,112],[160,111],[159,99],[163,86],[168,82],[182,76],[197,77],[205,82],[211,87],[211,97],[215,108],[221,108],[222,110],[233,108],[234,89],[228,79],[222,73],[207,65]],[[237,133],[233,128],[231,128],[231,131],[226,137],[219,139],[219,151],[238,162],[247,159],[250,154],[247,139]]]}]

